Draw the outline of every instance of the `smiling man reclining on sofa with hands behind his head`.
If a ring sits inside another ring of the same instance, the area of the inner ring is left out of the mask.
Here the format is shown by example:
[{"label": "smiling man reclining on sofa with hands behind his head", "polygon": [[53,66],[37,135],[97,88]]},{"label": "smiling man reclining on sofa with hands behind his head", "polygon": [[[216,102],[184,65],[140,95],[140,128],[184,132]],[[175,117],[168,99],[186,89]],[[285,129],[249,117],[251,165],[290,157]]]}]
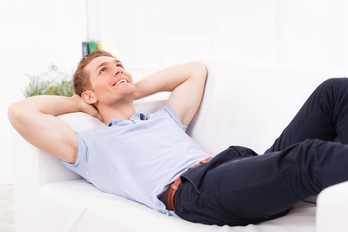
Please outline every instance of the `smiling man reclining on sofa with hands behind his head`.
[{"label": "smiling man reclining on sofa with hands behind his head", "polygon": [[[26,141],[99,190],[191,222],[267,221],[348,180],[348,78],[319,85],[263,155],[230,146],[214,158],[185,134],[205,80],[205,66],[195,61],[134,83],[116,57],[97,50],[79,62],[74,96],[29,97],[12,103],[8,118]],[[135,112],[134,99],[160,91],[172,92],[166,106]],[[73,131],[54,117],[77,111],[106,127]],[[337,135],[342,144],[332,142]]]}]

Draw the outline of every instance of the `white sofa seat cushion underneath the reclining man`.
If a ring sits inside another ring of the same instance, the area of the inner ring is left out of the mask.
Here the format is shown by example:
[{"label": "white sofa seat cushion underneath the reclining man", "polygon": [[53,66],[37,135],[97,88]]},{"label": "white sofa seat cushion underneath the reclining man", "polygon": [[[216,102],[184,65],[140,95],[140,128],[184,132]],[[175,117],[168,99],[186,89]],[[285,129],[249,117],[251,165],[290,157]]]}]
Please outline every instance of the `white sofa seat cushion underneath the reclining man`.
[{"label": "white sofa seat cushion underneath the reclining man", "polygon": [[46,184],[39,195],[39,231],[315,231],[316,204],[304,201],[287,215],[257,226],[217,226],[167,216],[141,203],[104,193],[83,179]]}]

